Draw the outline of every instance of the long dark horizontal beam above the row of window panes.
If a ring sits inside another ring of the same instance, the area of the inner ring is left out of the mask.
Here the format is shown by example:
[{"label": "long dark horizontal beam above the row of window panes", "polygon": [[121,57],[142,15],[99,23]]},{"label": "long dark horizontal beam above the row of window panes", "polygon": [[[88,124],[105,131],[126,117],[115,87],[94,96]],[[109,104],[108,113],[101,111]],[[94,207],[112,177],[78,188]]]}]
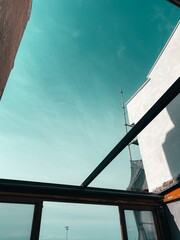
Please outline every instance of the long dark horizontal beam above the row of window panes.
[{"label": "long dark horizontal beam above the row of window panes", "polygon": [[155,206],[162,202],[162,197],[150,193],[0,179],[0,201],[17,202],[17,199],[24,203],[54,201],[116,206]]}]

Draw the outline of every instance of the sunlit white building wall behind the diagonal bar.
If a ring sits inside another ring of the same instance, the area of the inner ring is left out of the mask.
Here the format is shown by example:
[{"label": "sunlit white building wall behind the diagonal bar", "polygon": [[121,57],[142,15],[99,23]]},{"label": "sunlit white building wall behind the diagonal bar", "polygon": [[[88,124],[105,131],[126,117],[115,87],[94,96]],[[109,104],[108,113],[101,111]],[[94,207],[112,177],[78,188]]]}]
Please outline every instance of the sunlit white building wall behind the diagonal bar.
[{"label": "sunlit white building wall behind the diagonal bar", "polygon": [[[180,76],[180,22],[148,74],[148,80],[127,103],[130,123],[152,107]],[[180,96],[139,135],[139,146],[150,191],[180,173]]]}]

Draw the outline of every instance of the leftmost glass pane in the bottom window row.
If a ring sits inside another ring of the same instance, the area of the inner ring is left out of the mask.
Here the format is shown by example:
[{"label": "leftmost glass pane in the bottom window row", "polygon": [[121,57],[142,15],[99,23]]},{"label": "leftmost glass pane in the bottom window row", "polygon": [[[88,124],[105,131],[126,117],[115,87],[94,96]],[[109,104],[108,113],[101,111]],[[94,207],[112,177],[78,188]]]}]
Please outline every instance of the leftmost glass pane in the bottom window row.
[{"label": "leftmost glass pane in the bottom window row", "polygon": [[34,205],[0,203],[0,239],[29,240]]}]

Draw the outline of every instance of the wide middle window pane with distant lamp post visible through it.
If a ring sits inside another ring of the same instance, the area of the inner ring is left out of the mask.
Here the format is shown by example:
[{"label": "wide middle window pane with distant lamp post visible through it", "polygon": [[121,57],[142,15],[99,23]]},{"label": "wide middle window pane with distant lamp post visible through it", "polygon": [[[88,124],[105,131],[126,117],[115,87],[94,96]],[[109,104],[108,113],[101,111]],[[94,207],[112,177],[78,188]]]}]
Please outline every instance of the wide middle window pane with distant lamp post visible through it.
[{"label": "wide middle window pane with distant lamp post visible through it", "polygon": [[120,235],[117,207],[44,204],[40,240],[121,240]]}]

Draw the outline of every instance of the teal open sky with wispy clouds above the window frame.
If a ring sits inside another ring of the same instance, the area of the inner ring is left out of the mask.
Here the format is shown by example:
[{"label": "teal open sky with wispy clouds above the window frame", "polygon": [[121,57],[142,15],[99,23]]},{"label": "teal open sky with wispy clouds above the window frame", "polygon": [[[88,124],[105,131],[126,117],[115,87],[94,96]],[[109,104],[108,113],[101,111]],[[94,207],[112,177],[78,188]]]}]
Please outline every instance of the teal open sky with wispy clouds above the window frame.
[{"label": "teal open sky with wispy clouds above the window frame", "polygon": [[[0,102],[1,178],[80,185],[125,134],[121,88],[144,83],[178,20],[165,0],[33,0]],[[124,151],[91,186],[129,178]]]}]

